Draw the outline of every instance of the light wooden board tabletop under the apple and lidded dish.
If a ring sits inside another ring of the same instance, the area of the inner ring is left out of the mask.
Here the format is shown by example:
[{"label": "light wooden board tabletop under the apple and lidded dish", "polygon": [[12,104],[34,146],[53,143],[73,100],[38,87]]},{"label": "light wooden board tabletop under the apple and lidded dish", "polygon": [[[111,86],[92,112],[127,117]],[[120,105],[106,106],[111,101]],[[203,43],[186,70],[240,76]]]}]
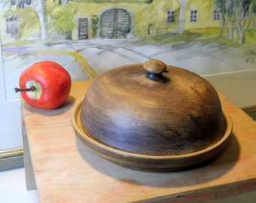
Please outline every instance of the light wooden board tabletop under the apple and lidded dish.
[{"label": "light wooden board tabletop under the apple and lidded dish", "polygon": [[78,140],[70,122],[72,108],[90,84],[72,83],[68,101],[54,111],[23,103],[41,203],[205,202],[256,189],[256,122],[223,95],[233,135],[218,159],[187,171],[151,173],[108,162]]}]

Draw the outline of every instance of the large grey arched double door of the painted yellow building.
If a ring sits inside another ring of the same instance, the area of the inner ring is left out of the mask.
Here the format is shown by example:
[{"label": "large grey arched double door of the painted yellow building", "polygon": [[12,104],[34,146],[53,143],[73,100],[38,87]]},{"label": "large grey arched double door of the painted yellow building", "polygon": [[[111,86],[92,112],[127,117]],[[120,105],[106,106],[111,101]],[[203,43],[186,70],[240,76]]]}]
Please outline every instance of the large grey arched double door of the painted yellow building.
[{"label": "large grey arched double door of the painted yellow building", "polygon": [[122,8],[111,8],[100,17],[101,38],[126,38],[131,30],[131,17]]}]

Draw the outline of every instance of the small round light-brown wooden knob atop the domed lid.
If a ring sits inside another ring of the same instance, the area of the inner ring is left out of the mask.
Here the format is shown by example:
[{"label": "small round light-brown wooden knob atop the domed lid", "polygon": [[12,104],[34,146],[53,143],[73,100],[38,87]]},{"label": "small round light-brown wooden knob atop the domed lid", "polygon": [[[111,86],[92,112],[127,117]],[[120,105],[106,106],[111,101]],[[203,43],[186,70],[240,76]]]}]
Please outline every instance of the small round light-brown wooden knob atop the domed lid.
[{"label": "small round light-brown wooden knob atop the domed lid", "polygon": [[166,64],[157,59],[148,60],[143,64],[143,68],[150,74],[161,74],[166,72]]}]

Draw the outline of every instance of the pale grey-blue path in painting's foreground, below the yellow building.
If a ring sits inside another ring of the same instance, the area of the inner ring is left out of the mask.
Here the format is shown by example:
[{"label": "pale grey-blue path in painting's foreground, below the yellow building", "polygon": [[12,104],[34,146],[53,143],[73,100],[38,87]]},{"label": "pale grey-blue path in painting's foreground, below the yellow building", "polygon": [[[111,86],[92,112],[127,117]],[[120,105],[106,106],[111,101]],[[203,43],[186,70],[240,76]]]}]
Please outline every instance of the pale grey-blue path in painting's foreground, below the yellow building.
[{"label": "pale grey-blue path in painting's foreground, below the yellow building", "polygon": [[[255,69],[238,50],[200,42],[182,44],[139,44],[131,39],[90,40],[66,44],[39,44],[28,47],[4,47],[7,86],[18,85],[20,73],[34,62],[53,60],[63,65],[72,80],[91,80],[120,65],[160,59],[200,75]],[[8,91],[8,99],[19,95]]]}]

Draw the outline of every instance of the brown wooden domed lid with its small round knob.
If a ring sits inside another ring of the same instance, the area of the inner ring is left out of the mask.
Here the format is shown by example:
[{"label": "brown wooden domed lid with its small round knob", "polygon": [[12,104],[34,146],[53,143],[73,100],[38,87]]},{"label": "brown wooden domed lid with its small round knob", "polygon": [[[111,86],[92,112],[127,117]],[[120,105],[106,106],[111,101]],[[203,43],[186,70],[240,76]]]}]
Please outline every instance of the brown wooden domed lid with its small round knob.
[{"label": "brown wooden domed lid with its small round knob", "polygon": [[218,142],[226,130],[212,85],[155,59],[96,78],[84,98],[80,120],[97,142],[147,156],[194,153]]}]

